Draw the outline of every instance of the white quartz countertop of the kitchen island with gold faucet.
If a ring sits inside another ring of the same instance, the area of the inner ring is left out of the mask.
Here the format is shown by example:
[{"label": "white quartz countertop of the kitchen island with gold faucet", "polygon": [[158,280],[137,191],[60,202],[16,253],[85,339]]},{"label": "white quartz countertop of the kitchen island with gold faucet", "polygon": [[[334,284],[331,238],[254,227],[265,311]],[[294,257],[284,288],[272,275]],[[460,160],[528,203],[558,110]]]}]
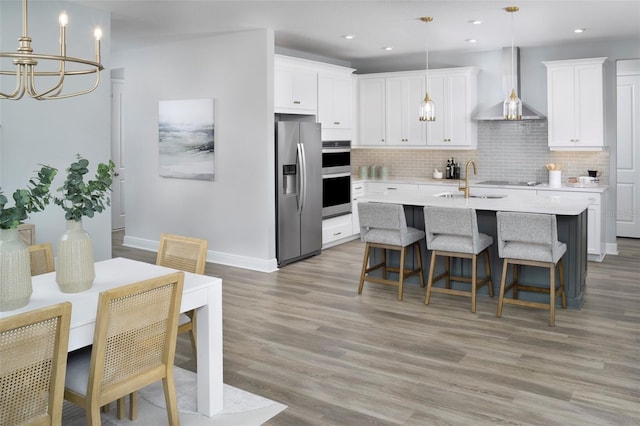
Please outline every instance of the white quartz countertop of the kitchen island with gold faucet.
[{"label": "white quartz countertop of the kitchen island with gold faucet", "polygon": [[[546,213],[556,215],[575,216],[585,211],[590,201],[587,199],[575,199],[562,197],[561,195],[546,195],[544,192],[520,191],[521,194],[509,194],[504,198],[464,198],[457,187],[442,190],[394,190],[379,193],[367,193],[358,198],[362,202],[395,203],[411,206],[438,206],[438,207],[471,207],[476,210],[512,211],[528,213]],[[452,194],[452,197],[440,196],[443,193]],[[473,185],[471,194],[474,194]],[[476,192],[481,196],[480,191]]]}]

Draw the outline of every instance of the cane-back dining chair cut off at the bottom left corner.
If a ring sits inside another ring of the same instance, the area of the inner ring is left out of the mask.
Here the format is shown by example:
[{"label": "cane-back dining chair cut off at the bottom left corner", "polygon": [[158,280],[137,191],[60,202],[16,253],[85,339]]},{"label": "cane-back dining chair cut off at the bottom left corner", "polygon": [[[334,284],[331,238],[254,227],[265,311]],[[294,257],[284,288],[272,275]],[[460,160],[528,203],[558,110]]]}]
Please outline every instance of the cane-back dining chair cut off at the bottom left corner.
[{"label": "cane-back dining chair cut off at the bottom left corner", "polygon": [[0,425],[61,425],[71,303],[0,320]]}]

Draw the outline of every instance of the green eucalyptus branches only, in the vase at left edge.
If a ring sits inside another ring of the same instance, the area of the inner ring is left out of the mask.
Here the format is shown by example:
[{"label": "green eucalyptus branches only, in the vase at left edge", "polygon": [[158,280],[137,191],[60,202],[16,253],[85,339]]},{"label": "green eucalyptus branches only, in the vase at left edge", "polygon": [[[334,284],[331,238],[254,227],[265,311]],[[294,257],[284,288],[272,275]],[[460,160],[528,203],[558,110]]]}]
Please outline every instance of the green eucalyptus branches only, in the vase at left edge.
[{"label": "green eucalyptus branches only, in the vase at left edge", "polygon": [[15,229],[30,213],[44,210],[51,199],[50,187],[57,169],[42,165],[36,176],[29,179],[26,189],[16,189],[13,193],[13,207],[6,207],[9,200],[0,189],[0,229]]}]

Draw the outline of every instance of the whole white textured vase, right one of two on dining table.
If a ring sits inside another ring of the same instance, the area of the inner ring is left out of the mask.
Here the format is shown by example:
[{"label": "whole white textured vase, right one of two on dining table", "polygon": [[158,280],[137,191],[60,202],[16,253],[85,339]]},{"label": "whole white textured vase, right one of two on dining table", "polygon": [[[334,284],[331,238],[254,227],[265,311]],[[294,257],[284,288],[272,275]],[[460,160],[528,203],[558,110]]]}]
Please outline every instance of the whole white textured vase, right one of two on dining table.
[{"label": "whole white textured vase, right one of two on dining table", "polygon": [[90,289],[95,278],[91,235],[82,227],[82,220],[68,220],[58,240],[58,287],[63,293],[78,293]]}]

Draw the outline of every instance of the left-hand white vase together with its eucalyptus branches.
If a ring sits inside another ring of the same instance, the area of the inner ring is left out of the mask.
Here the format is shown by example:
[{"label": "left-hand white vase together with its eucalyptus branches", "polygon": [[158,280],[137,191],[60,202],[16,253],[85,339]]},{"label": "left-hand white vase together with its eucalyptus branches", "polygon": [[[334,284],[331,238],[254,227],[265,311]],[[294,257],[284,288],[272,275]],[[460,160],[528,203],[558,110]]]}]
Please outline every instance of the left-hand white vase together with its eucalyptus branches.
[{"label": "left-hand white vase together with its eucalyptus branches", "polygon": [[17,228],[30,213],[42,211],[49,204],[49,188],[56,173],[53,167],[42,166],[29,179],[27,188],[15,190],[11,207],[0,189],[0,311],[29,303],[32,291],[29,250],[18,238]]}]

